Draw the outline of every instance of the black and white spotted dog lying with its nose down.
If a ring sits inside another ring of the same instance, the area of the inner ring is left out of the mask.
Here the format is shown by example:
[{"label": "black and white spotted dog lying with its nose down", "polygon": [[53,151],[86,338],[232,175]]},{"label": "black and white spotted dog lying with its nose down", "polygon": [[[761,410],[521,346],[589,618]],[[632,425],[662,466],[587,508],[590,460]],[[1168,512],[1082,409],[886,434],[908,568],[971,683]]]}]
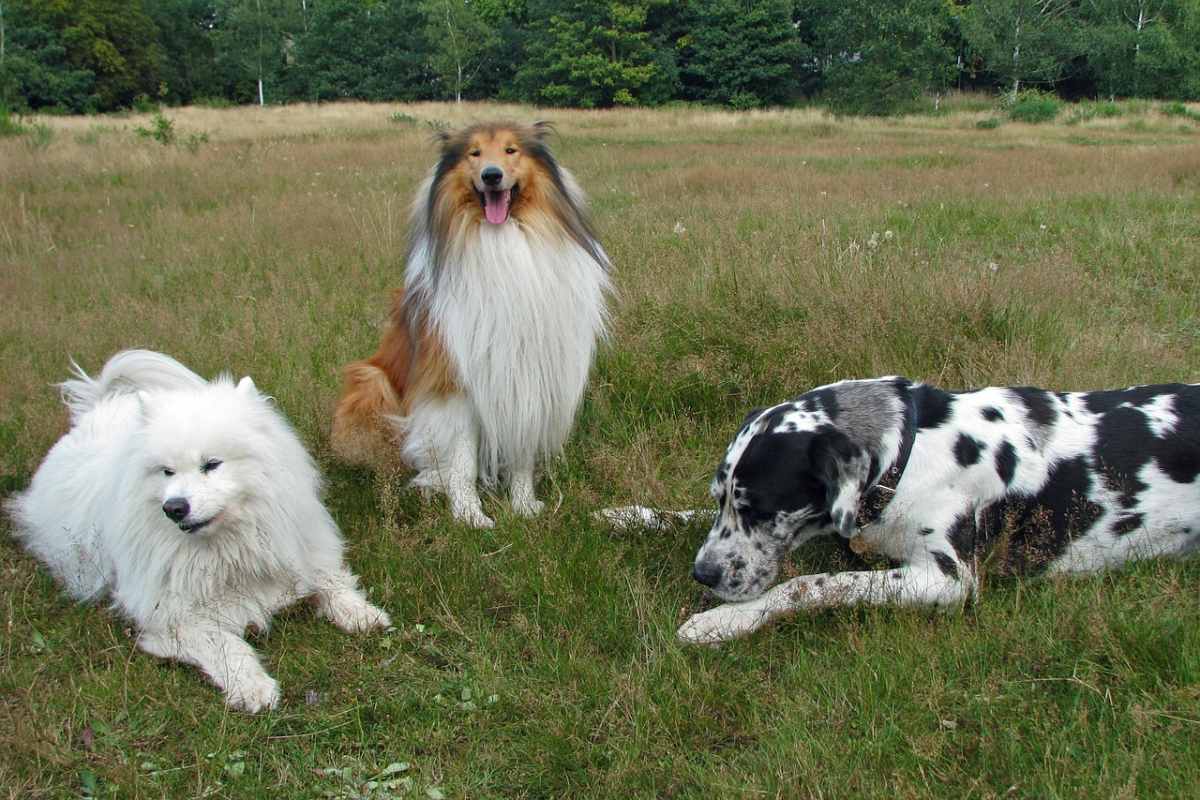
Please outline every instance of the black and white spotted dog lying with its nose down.
[{"label": "black and white spotted dog lying with its nose down", "polygon": [[[751,411],[716,470],[718,513],[692,576],[728,601],[686,642],[781,614],[950,606],[990,573],[1093,572],[1200,546],[1200,385],[948,392],[846,380]],[[634,506],[620,524],[689,512]],[[800,543],[836,533],[901,564],[768,589]]]}]

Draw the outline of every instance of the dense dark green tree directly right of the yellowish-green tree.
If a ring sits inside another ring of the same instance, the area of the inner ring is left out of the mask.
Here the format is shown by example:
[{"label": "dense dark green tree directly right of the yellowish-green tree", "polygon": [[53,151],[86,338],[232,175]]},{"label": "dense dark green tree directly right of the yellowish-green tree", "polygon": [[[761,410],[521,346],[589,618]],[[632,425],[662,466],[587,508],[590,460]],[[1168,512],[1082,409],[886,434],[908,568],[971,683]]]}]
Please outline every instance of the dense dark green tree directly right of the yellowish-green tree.
[{"label": "dense dark green tree directly right of the yellowish-green tree", "polygon": [[677,41],[684,96],[739,107],[786,103],[808,52],[792,0],[692,0]]}]

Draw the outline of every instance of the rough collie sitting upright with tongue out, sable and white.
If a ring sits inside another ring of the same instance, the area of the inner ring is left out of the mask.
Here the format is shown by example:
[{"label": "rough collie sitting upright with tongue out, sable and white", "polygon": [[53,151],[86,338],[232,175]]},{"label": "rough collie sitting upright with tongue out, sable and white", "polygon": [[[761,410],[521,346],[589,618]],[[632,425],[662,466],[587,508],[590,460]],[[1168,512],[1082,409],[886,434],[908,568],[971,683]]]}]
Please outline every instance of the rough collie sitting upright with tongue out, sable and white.
[{"label": "rough collie sitting upright with tongue out, sable and white", "polygon": [[550,128],[474,125],[440,134],[413,204],[404,288],[383,341],[344,371],[332,444],[395,461],[488,528],[478,481],[509,481],[533,516],[534,469],[570,433],[605,332],[610,263]]}]

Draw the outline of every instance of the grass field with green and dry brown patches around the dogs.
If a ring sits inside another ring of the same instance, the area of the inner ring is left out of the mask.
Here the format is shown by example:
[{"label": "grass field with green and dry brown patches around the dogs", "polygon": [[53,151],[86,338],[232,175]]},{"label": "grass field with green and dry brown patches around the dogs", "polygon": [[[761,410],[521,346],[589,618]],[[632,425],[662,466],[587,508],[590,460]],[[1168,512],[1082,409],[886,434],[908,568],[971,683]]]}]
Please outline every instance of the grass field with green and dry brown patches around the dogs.
[{"label": "grass field with green and dry brown patches around the dogs", "polygon": [[[541,480],[553,513],[488,500],[480,533],[335,463],[328,427],[401,279],[425,122],[536,114],[175,109],[173,145],[138,116],[0,139],[0,493],[64,432],[68,356],[251,374],[396,620],[353,638],[283,614],[256,642],[282,706],[233,714],[65,600],[2,522],[0,798],[1194,796],[1198,559],[691,649],[706,531],[589,512],[704,504],[748,408],[839,378],[1200,380],[1200,124],[550,114],[617,265],[613,336]],[[794,569],[851,559],[817,543]]]}]

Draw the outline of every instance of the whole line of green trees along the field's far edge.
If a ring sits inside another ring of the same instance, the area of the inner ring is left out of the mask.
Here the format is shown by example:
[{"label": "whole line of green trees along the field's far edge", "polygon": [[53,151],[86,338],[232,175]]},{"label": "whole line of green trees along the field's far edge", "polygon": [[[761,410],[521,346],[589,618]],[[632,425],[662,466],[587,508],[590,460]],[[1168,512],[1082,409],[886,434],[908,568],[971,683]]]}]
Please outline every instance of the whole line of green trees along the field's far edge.
[{"label": "whole line of green trees along the field's far edge", "polygon": [[1200,98],[1200,0],[0,0],[0,103]]}]

